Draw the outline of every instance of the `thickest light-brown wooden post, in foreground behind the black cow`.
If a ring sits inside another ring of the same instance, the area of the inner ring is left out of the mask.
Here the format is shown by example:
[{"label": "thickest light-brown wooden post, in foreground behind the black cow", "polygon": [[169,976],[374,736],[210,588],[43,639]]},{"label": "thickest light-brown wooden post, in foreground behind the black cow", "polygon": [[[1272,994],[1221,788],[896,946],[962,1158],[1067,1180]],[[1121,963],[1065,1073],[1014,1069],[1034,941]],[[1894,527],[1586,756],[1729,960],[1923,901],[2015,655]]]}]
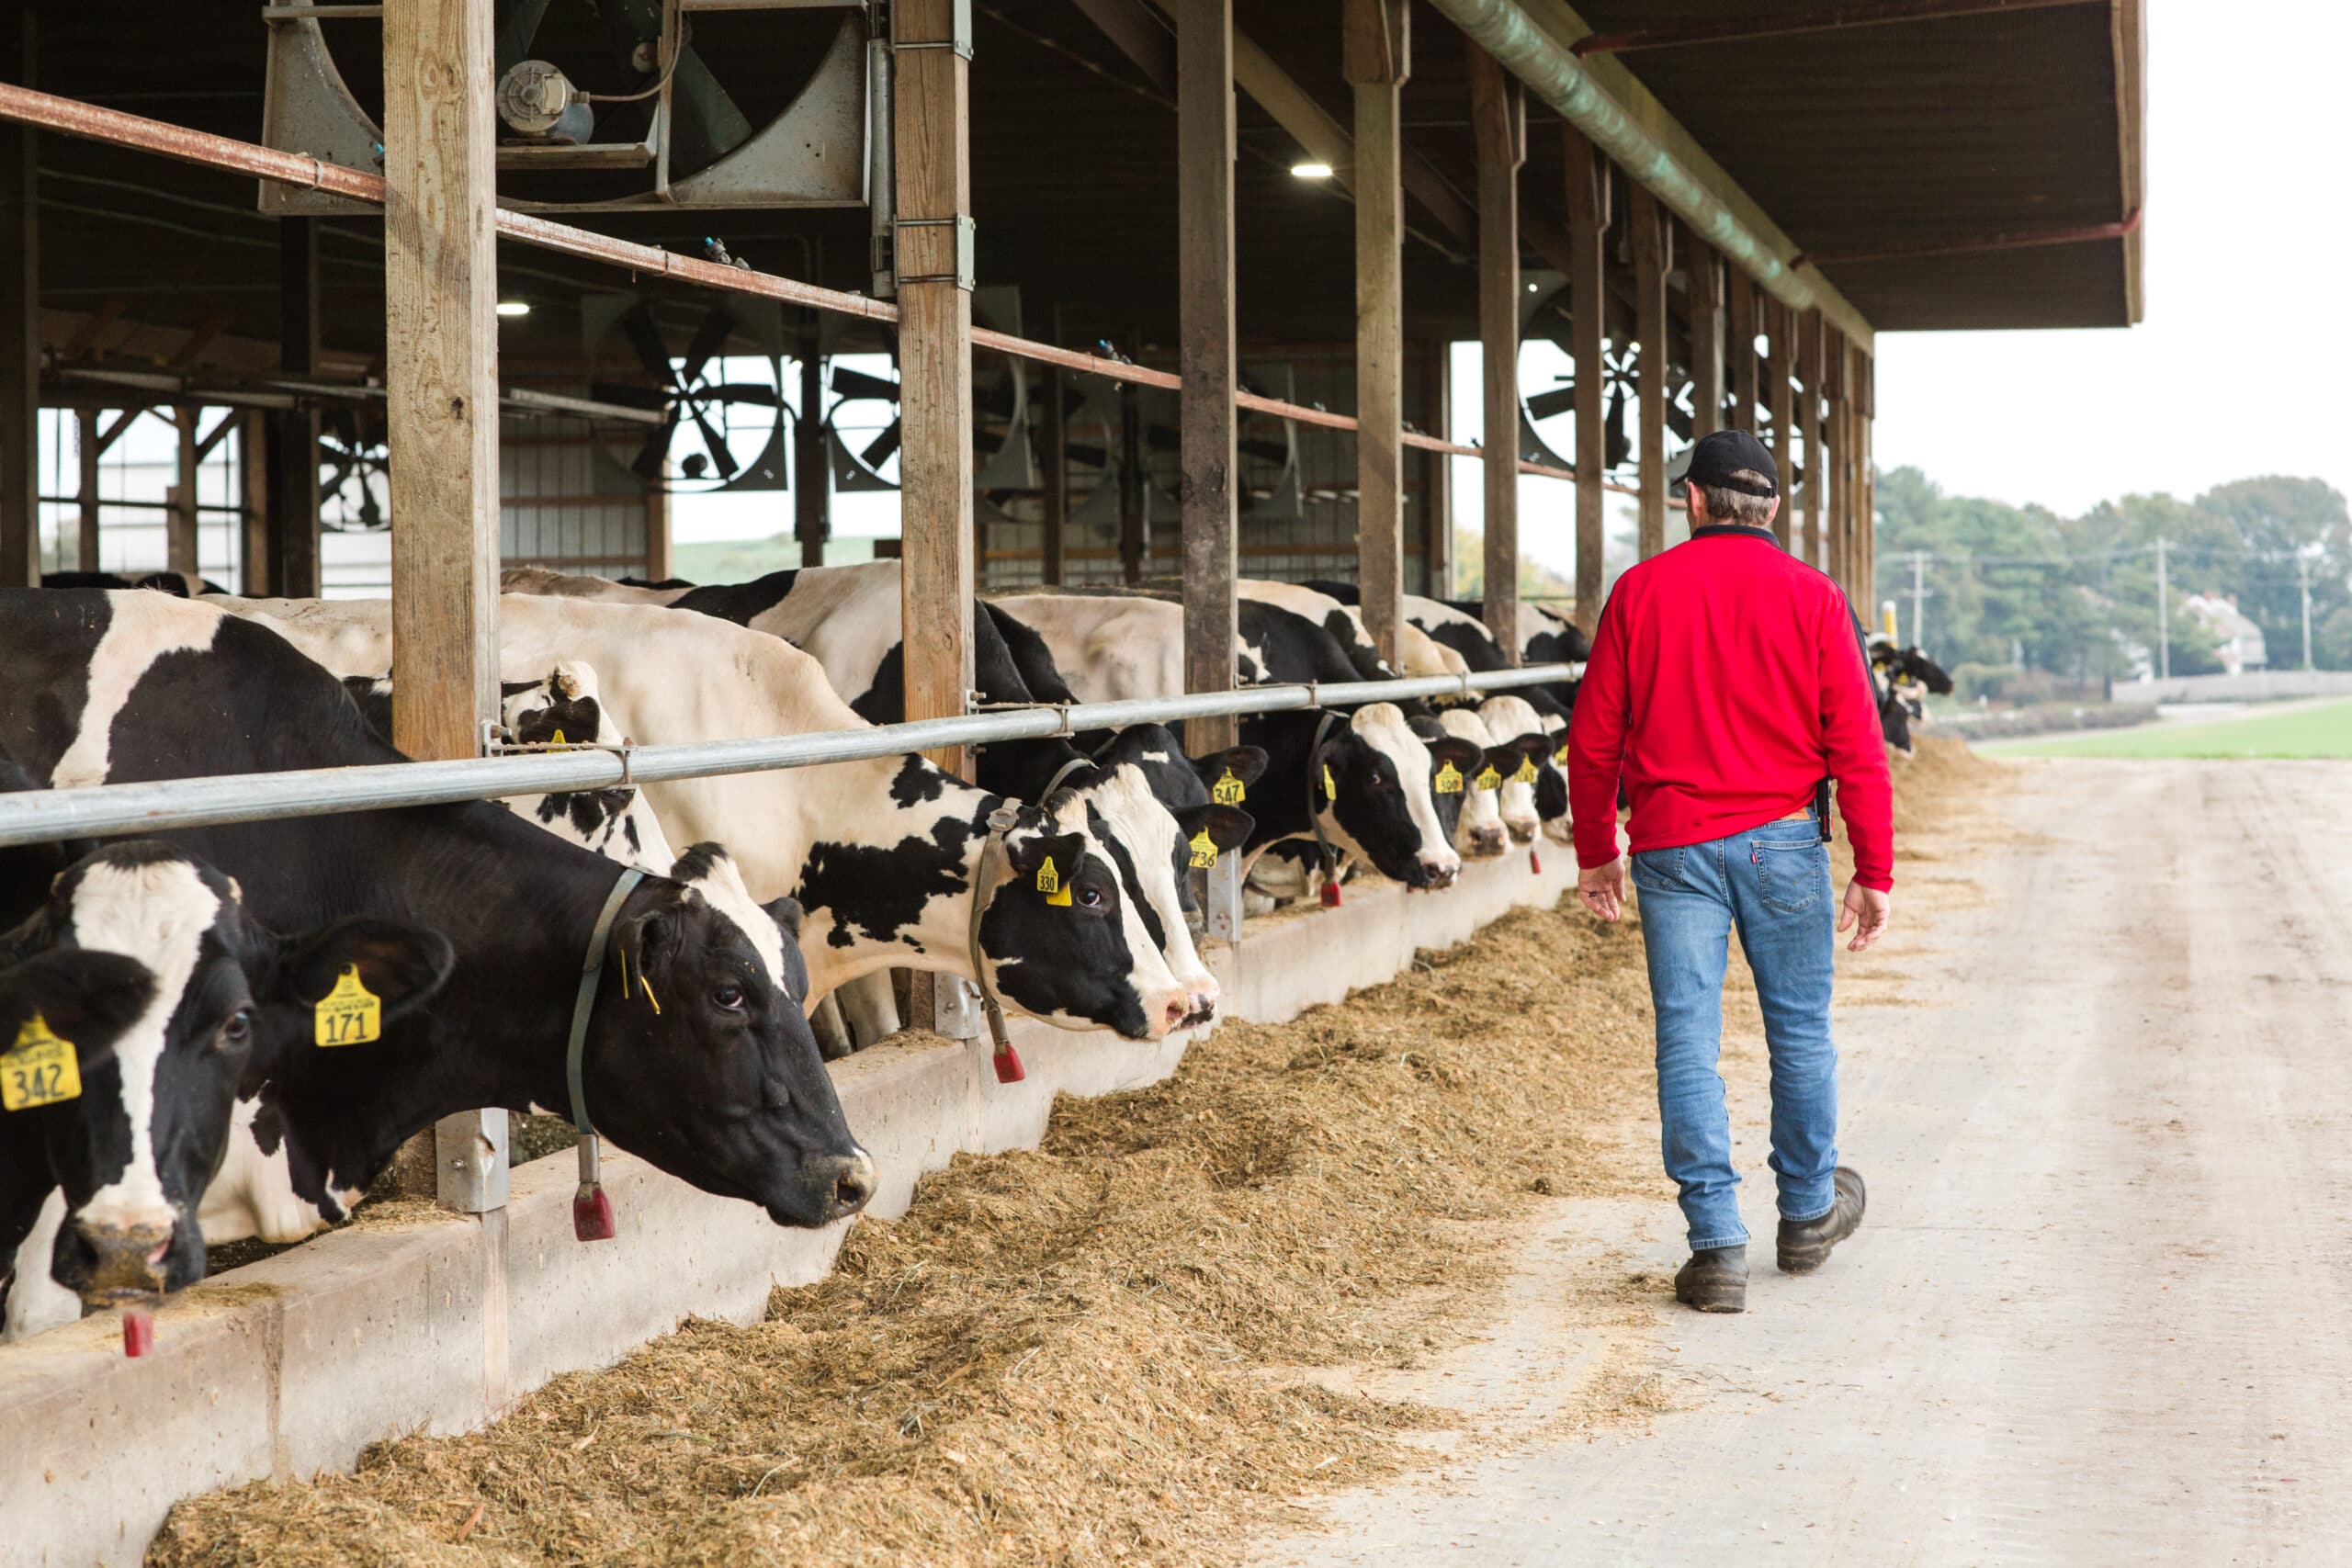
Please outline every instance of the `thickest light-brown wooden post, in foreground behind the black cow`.
[{"label": "thickest light-brown wooden post, in foreground behind the black cow", "polygon": [[[499,715],[494,78],[492,0],[386,7],[393,743],[421,759],[477,757]],[[501,1211],[506,1112],[445,1117],[435,1173],[445,1206]]]}]

